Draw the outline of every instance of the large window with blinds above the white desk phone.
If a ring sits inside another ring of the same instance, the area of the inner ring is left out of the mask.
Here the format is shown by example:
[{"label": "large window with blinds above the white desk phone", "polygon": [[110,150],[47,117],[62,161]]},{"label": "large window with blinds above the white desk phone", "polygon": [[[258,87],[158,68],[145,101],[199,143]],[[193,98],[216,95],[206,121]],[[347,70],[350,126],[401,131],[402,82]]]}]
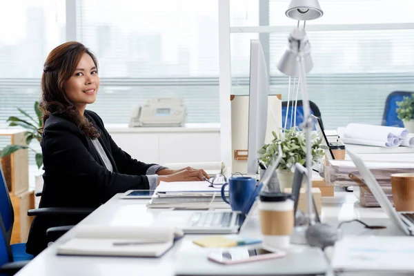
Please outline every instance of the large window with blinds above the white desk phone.
[{"label": "large window with blinds above the white desk phone", "polygon": [[77,1],[77,37],[100,66],[90,109],[106,124],[128,124],[150,97],[183,97],[188,123],[218,123],[217,9],[210,0]]}]

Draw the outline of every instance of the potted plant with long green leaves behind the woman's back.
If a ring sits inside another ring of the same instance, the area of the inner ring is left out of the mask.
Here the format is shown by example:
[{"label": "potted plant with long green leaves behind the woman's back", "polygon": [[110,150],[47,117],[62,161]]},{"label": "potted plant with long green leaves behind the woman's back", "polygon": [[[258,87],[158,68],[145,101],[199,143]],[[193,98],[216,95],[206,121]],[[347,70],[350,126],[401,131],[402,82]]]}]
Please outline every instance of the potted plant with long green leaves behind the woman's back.
[{"label": "potted plant with long green leaves behind the woman's back", "polygon": [[[32,150],[34,152],[34,158],[36,159],[36,165],[37,168],[41,168],[43,164],[43,156],[41,152],[37,152],[37,150],[34,150],[30,147],[31,141],[38,141],[41,140],[41,134],[38,132],[39,128],[41,128],[42,121],[41,116],[42,113],[39,110],[39,102],[36,101],[34,103],[34,112],[36,114],[36,117],[32,117],[28,114],[28,112],[22,110],[21,108],[17,108],[19,112],[23,115],[23,117],[15,117],[11,116],[7,119],[8,126],[20,126],[21,128],[26,129],[25,137],[26,137],[26,145],[27,146],[19,146],[19,145],[9,145],[3,148],[3,150],[0,150],[0,158],[6,157],[7,155],[11,155],[13,152],[28,148],[29,150]],[[41,175],[36,176],[36,190],[41,190],[43,186],[43,179]]]}]

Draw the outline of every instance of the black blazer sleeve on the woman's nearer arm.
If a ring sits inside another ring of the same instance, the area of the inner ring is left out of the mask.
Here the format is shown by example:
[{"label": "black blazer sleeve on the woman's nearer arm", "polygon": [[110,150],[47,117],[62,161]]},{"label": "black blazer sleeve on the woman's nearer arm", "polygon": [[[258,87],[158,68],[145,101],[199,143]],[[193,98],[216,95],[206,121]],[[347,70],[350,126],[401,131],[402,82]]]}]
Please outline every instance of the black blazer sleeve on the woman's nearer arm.
[{"label": "black blazer sleeve on the woman's nearer arm", "polygon": [[145,175],[110,172],[101,166],[82,143],[78,131],[77,128],[49,126],[43,132],[43,163],[47,172],[70,179],[80,189],[95,190],[101,202],[116,193],[149,188]]}]

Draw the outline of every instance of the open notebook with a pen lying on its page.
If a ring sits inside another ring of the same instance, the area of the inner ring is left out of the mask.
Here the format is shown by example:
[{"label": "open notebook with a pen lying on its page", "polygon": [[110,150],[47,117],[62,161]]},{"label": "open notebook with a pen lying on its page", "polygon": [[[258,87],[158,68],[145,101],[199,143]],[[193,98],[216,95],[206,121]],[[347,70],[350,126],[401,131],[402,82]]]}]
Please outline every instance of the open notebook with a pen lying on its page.
[{"label": "open notebook with a pen lying on its page", "polygon": [[[76,229],[76,230],[75,230]],[[77,226],[58,255],[159,257],[184,233],[158,226]]]}]

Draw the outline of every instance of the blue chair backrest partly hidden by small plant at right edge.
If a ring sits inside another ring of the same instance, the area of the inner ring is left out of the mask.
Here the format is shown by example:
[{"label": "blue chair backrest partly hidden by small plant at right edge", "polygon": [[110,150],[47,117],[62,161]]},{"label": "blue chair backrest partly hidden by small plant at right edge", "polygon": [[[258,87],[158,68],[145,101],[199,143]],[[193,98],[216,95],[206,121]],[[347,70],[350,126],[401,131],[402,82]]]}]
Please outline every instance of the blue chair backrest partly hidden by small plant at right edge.
[{"label": "blue chair backrest partly hidden by small plant at right edge", "polygon": [[382,126],[397,126],[404,128],[404,123],[397,116],[397,101],[402,101],[404,97],[414,97],[414,92],[394,91],[385,100],[384,115],[382,115]]}]

